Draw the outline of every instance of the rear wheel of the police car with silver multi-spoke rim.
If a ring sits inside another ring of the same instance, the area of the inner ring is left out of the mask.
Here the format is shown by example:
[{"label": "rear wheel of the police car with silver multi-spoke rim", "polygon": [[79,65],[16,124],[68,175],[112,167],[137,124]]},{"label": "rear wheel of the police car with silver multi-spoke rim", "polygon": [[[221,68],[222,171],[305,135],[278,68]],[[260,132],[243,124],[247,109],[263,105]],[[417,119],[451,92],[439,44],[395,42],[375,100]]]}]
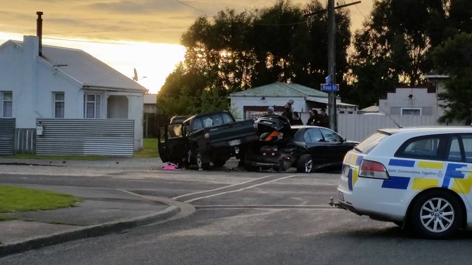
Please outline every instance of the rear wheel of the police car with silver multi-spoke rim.
[{"label": "rear wheel of the police car with silver multi-spoke rim", "polygon": [[410,213],[414,231],[425,238],[447,238],[459,230],[464,217],[454,195],[434,190],[421,194]]}]

